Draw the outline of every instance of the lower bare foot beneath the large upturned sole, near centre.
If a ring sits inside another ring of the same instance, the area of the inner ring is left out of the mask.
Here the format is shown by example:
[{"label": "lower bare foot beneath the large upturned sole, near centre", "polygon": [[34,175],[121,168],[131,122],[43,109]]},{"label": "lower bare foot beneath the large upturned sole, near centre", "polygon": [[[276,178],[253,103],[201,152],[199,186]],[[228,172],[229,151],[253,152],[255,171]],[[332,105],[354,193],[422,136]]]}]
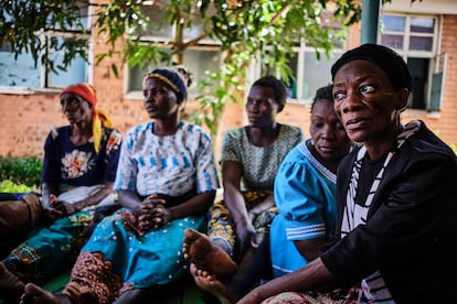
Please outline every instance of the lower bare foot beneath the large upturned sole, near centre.
[{"label": "lower bare foot beneath the large upturned sole, near centre", "polygon": [[214,294],[223,304],[235,303],[235,296],[232,292],[214,275],[204,270],[200,270],[195,264],[191,264],[191,274],[195,284],[203,291]]}]

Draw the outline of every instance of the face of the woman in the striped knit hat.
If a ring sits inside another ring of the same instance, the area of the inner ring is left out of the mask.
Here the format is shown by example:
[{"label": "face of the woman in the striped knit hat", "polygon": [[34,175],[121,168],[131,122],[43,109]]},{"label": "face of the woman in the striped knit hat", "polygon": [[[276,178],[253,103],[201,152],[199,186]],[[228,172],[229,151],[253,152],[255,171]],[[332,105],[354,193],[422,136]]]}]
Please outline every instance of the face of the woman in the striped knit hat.
[{"label": "face of the woman in the striped knit hat", "polygon": [[180,102],[174,90],[158,78],[149,78],[142,89],[145,108],[151,119],[166,119],[177,115]]}]

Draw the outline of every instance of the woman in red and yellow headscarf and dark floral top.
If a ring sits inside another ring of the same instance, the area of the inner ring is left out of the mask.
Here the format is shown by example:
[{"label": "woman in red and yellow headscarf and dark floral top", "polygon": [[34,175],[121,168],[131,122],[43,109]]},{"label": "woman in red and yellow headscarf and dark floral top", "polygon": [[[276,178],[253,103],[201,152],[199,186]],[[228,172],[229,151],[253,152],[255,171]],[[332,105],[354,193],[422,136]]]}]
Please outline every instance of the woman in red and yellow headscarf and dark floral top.
[{"label": "woman in red and yellow headscarf and dark floral top", "polygon": [[95,208],[117,204],[120,133],[96,108],[93,86],[68,86],[60,102],[70,124],[53,129],[44,144],[41,229],[0,262],[0,297],[18,298],[23,282],[42,282],[73,265]]}]

